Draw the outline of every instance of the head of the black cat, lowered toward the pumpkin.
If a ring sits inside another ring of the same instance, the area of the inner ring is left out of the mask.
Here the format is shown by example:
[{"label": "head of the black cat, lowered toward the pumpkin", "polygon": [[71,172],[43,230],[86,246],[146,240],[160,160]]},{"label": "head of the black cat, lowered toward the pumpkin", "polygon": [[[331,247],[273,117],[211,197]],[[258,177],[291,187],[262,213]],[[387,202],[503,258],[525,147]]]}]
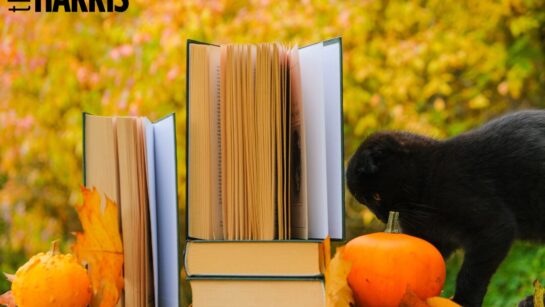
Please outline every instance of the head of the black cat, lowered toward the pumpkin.
[{"label": "head of the black cat, lowered toward the pumpkin", "polygon": [[348,189],[383,222],[390,210],[409,197],[415,189],[418,162],[416,148],[431,139],[405,132],[377,132],[356,150],[346,170]]}]

